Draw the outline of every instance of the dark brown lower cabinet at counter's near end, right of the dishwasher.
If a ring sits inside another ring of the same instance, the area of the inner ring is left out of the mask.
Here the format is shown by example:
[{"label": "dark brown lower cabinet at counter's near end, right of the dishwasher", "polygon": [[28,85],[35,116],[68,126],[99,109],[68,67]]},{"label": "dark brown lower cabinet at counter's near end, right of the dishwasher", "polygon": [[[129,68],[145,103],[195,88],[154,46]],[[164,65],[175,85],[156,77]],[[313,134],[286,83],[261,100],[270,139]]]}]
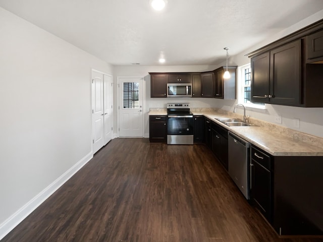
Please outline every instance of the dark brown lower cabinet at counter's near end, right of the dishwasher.
[{"label": "dark brown lower cabinet at counter's near end, right of the dishwasher", "polygon": [[271,156],[252,146],[252,204],[280,235],[323,235],[323,157]]}]

